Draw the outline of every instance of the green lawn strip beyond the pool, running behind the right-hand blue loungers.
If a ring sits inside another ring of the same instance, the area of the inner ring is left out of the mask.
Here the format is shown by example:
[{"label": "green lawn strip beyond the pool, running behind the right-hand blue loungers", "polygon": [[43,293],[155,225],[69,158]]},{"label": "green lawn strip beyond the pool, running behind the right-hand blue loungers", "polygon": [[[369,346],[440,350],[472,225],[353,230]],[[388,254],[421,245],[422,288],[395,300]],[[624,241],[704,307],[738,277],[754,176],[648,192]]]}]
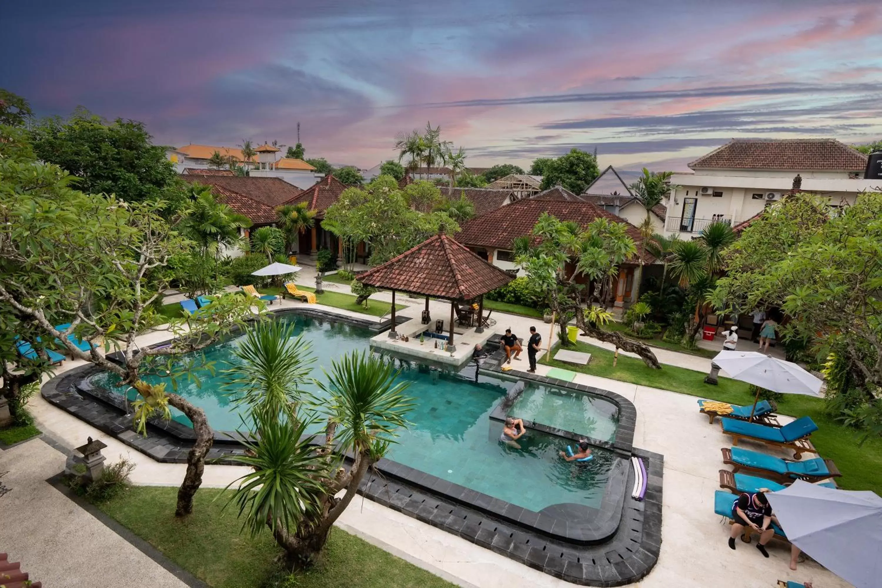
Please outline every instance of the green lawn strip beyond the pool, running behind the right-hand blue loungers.
[{"label": "green lawn strip beyond the pool, running behind the right-hand blue loungers", "polygon": [[[706,374],[702,372],[669,365],[663,366],[661,370],[648,368],[642,360],[621,354],[618,357],[617,367],[613,368],[613,352],[582,341],[576,343],[576,349],[592,354],[587,366],[554,360],[545,361],[544,355],[540,363],[738,405],[753,402],[753,395],[748,391],[748,384],[744,382],[721,377],[719,385],[712,386],[704,383]],[[855,429],[844,427],[840,422],[827,416],[824,413],[824,401],[820,398],[785,394],[778,403],[778,408],[782,414],[794,417],[810,416],[812,421],[818,424],[819,430],[811,434],[811,441],[821,456],[833,459],[839,467],[842,477],[837,483],[842,488],[873,490],[882,494],[882,438],[872,438],[864,443],[863,447],[858,447]],[[699,418],[698,410],[696,406],[696,418]],[[701,415],[700,418],[705,417]],[[672,423],[673,426],[676,424]],[[714,424],[714,427],[719,425]]]}]

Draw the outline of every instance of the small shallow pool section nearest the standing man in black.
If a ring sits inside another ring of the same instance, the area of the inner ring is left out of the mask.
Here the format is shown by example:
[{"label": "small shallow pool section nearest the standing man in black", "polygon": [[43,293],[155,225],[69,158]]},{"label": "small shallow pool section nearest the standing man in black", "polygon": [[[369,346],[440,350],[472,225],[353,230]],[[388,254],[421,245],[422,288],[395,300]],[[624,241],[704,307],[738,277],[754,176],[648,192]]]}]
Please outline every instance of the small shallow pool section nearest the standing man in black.
[{"label": "small shallow pool section nearest the standing man in black", "polygon": [[528,383],[507,413],[600,441],[616,438],[618,406],[580,391]]}]

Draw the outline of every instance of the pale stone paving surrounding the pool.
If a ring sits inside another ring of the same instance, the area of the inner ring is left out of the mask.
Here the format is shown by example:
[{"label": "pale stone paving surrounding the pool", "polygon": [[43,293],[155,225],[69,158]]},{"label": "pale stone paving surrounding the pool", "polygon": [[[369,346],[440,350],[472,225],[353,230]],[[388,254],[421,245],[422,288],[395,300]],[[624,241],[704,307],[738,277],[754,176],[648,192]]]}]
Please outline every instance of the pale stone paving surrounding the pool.
[{"label": "pale stone paving surrounding the pool", "polygon": [[[308,280],[298,281],[306,285],[310,283]],[[326,287],[329,286],[331,284],[326,284]],[[384,294],[375,296],[383,299]],[[416,317],[418,321],[423,303],[415,303],[413,307],[400,311],[400,314]],[[437,309],[433,304],[436,303],[430,302],[433,316],[442,316],[441,307],[449,311],[446,304],[437,303]],[[283,308],[299,305],[302,303],[281,303]],[[313,308],[320,306],[313,305]],[[329,307],[324,309],[379,323],[375,316]],[[494,331],[511,327],[521,337],[527,333],[531,324],[540,329],[543,325],[534,318],[524,316],[494,313],[494,317],[498,320]],[[547,337],[548,326],[544,325],[546,332],[540,331],[543,338]],[[164,339],[168,339],[168,332],[149,332],[138,337],[138,345],[151,345]],[[591,343],[595,344],[594,341]],[[655,351],[659,361],[669,365],[699,371],[706,371],[710,365],[709,360],[698,356],[666,350]],[[82,361],[65,361],[64,366],[56,369],[56,374],[83,364]],[[526,364],[525,360],[523,365],[518,362],[515,367],[526,369]],[[544,375],[548,369],[546,366],[539,366],[537,373]],[[517,370],[512,370],[511,375],[516,376]],[[663,382],[663,373],[660,381]],[[638,584],[632,585],[645,588],[766,588],[774,585],[776,579],[800,582],[811,580],[815,585],[826,588],[847,588],[850,585],[811,561],[801,563],[796,572],[790,571],[789,549],[774,542],[769,548],[771,558],[767,560],[752,545],[738,542],[735,552],[729,550],[726,544],[729,527],[723,525],[720,517],[714,515],[713,511],[718,471],[723,468],[720,448],[729,445],[728,438],[721,434],[719,425],[709,425],[706,417],[698,412],[696,398],[585,374],[577,375],[574,382],[614,391],[630,399],[637,407],[634,444],[661,453],[665,458],[661,556],[653,571]],[[185,466],[161,464],[147,458],[123,443],[101,434],[73,415],[50,405],[39,395],[31,400],[29,408],[34,413],[38,426],[46,432],[47,440],[58,449],[42,439],[34,439],[11,449],[0,450],[0,472],[9,471],[0,481],[13,488],[13,492],[17,488],[23,490],[19,495],[26,494],[28,498],[26,509],[18,509],[19,515],[23,513],[24,516],[19,516],[20,524],[14,526],[20,530],[30,522],[29,528],[32,530],[28,535],[29,539],[23,541],[16,537],[19,532],[13,533],[10,525],[4,525],[0,528],[0,546],[10,553],[11,561],[21,561],[33,577],[41,579],[47,585],[71,585],[71,577],[77,577],[82,585],[100,585],[108,577],[113,577],[108,576],[111,572],[107,568],[95,569],[90,559],[78,557],[69,548],[48,548],[57,545],[57,541],[53,543],[52,540],[55,526],[41,527],[34,513],[55,512],[55,517],[65,524],[85,521],[83,524],[86,525],[86,531],[66,534],[70,542],[65,540],[64,545],[84,545],[87,541],[98,540],[101,541],[102,553],[127,556],[129,551],[134,553],[131,544],[107,526],[96,524],[96,520],[75,503],[64,502],[67,501],[66,498],[58,495],[47,482],[41,480],[59,473],[64,463],[64,451],[85,443],[86,436],[101,438],[108,444],[103,453],[111,462],[119,455],[131,458],[137,464],[132,473],[135,484],[178,485],[183,479]],[[751,443],[747,446],[751,446]],[[32,457],[37,454],[41,458]],[[206,465],[203,485],[206,488],[223,488],[247,471],[247,468],[241,466]],[[4,513],[17,508],[9,498],[10,495],[6,495],[0,501],[0,510]],[[462,586],[509,588],[512,585],[525,584],[539,587],[573,585],[370,500],[356,499],[352,507],[340,517],[337,525]],[[169,577],[168,570],[159,563],[146,560],[138,554],[132,557],[138,560],[137,577],[141,583],[146,584],[149,581],[163,586],[186,585]],[[123,563],[117,567],[124,567]],[[118,573],[126,574],[129,571],[133,570],[120,570]],[[122,581],[123,579],[125,578],[121,578],[118,584],[134,585]]]}]

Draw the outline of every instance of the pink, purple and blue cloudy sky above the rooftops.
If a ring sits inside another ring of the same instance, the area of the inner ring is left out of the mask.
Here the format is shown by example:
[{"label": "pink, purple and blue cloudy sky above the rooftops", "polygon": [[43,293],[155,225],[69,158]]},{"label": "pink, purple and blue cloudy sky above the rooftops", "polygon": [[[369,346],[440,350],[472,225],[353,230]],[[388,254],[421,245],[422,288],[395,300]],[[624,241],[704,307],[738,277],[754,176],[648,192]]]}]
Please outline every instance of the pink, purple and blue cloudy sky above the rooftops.
[{"label": "pink, purple and blue cloudy sky above the rooftops", "polygon": [[572,147],[684,169],[733,137],[882,138],[878,0],[305,0],[4,6],[0,86],[165,145],[371,167],[440,124],[467,163]]}]

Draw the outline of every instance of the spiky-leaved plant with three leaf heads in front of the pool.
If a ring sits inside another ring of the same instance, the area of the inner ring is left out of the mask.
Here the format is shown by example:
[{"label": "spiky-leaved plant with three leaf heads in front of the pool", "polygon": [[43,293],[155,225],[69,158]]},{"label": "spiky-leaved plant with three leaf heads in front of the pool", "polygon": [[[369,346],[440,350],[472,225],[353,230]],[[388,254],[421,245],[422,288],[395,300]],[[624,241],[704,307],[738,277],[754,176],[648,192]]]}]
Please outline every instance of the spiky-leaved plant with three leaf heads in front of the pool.
[{"label": "spiky-leaved plant with three leaf heads in front of the pool", "polygon": [[[304,569],[318,561],[364,475],[407,427],[412,404],[403,395],[407,383],[395,382],[399,372],[368,352],[334,361],[326,382],[314,382],[320,397],[300,390],[311,358],[290,334],[259,325],[237,352],[242,365],[230,370],[230,382],[244,386],[238,401],[249,406],[244,422],[258,435],[245,435],[248,455],[232,458],[254,472],[228,488],[236,488],[230,503],[243,529],[269,529],[288,566]],[[318,417],[324,441],[308,433]]]}]

